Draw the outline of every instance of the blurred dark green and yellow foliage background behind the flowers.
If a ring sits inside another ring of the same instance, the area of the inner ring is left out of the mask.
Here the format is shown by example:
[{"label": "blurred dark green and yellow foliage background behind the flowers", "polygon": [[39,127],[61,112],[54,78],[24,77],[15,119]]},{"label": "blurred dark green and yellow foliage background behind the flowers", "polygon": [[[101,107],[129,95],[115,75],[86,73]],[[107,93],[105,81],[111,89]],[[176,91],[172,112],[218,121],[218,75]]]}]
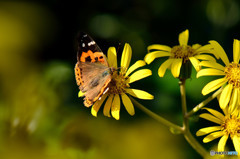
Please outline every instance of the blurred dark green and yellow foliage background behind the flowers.
[{"label": "blurred dark green and yellow foliage background behind the flowers", "polygon": [[[92,117],[77,98],[75,37],[89,33],[104,52],[128,42],[135,62],[148,45],[177,45],[189,29],[190,44],[217,40],[231,59],[239,12],[236,0],[0,1],[0,158],[199,158],[139,110],[130,117],[122,108],[120,121],[102,111]],[[158,77],[162,61],[146,66],[153,76],[133,86],[155,96],[141,103],[180,124],[178,80]],[[205,99],[201,89],[211,80],[195,74],[187,81],[189,108]],[[193,133],[205,124],[193,117]]]}]

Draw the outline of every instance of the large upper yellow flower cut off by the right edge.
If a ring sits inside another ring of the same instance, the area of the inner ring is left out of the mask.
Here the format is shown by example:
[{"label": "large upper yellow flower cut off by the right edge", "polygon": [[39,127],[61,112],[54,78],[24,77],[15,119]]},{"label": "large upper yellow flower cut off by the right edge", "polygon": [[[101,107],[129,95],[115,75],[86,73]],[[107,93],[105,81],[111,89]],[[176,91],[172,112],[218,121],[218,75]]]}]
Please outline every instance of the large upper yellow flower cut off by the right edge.
[{"label": "large upper yellow flower cut off by the right edge", "polygon": [[[239,40],[233,42],[233,62],[229,62],[228,57],[223,48],[216,41],[209,41],[213,46],[215,54],[221,58],[225,66],[218,64],[214,61],[202,61],[201,66],[209,67],[202,69],[197,73],[197,77],[200,76],[223,76],[219,79],[209,82],[203,89],[202,94],[206,95],[210,92],[224,86],[219,99],[219,105],[222,109],[225,109],[229,104],[231,112],[240,104],[240,50]],[[225,85],[226,84],[226,85]],[[236,104],[238,103],[238,104]]]}]

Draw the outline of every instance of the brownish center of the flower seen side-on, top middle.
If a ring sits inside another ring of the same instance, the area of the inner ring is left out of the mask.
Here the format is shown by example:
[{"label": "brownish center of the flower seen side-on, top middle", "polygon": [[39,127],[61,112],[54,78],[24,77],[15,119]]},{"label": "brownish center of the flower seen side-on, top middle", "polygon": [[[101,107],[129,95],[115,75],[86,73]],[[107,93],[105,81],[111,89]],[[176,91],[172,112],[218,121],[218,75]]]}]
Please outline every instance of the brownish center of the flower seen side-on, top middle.
[{"label": "brownish center of the flower seen side-on, top middle", "polygon": [[177,59],[183,59],[183,62],[185,63],[187,60],[189,60],[189,57],[192,57],[195,53],[195,50],[187,45],[187,46],[174,46],[172,48],[173,57]]}]

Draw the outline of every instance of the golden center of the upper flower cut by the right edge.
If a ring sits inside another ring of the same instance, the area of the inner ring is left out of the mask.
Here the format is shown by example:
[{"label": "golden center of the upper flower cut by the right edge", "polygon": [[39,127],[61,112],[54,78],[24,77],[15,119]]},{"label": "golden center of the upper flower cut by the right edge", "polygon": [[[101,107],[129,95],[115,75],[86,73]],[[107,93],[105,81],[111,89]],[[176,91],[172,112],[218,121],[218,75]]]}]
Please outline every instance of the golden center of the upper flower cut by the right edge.
[{"label": "golden center of the upper flower cut by the right edge", "polygon": [[224,72],[226,73],[226,78],[228,83],[232,84],[233,87],[240,87],[240,65],[236,63],[231,63],[225,67]]}]

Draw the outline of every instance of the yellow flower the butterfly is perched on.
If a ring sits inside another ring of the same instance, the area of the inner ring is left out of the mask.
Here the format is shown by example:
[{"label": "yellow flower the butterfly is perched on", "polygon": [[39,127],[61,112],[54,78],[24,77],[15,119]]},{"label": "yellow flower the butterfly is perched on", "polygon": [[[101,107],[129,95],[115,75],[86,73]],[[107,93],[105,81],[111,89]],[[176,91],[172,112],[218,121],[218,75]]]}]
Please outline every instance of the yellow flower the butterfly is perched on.
[{"label": "yellow flower the butterfly is perched on", "polygon": [[[109,67],[114,67],[117,70],[118,68],[117,52],[115,47],[110,47],[108,49],[107,56],[108,56]],[[108,87],[109,88],[108,92],[104,94],[99,100],[97,100],[92,106],[91,113],[93,116],[97,116],[97,113],[101,105],[106,99],[107,100],[103,108],[103,114],[105,116],[111,117],[110,115],[110,110],[111,110],[112,116],[117,120],[119,120],[120,118],[120,115],[119,115],[120,105],[121,105],[120,97],[122,99],[123,105],[125,106],[127,112],[130,115],[134,115],[135,110],[128,95],[131,95],[140,99],[148,99],[148,100],[153,99],[153,96],[145,91],[130,88],[131,83],[152,75],[152,71],[149,69],[141,69],[134,72],[136,69],[146,65],[146,63],[143,60],[139,60],[135,64],[133,64],[131,67],[129,67],[131,57],[132,57],[131,46],[126,43],[124,46],[122,58],[121,58],[121,65],[120,65],[121,69],[119,72],[118,71],[113,72],[112,80]],[[79,92],[79,96],[83,96],[83,93],[81,91]]]}]

